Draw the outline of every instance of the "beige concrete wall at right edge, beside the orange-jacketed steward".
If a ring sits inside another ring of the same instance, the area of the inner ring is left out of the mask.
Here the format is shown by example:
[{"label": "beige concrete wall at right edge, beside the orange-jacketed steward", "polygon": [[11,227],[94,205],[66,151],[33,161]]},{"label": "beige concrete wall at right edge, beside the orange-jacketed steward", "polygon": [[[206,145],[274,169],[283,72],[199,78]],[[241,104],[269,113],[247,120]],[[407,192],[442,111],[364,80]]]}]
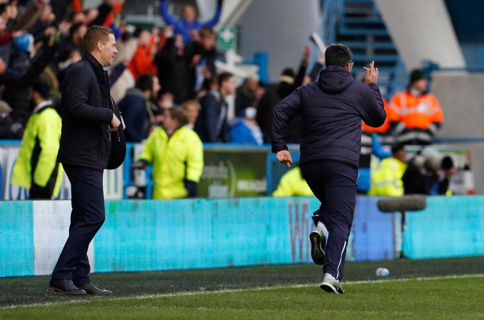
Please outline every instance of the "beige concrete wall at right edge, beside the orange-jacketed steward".
[{"label": "beige concrete wall at right edge, beside the orange-jacketed steward", "polygon": [[[432,92],[444,112],[441,136],[484,136],[484,73],[432,73]],[[456,144],[472,156],[476,193],[484,193],[484,143]]]}]

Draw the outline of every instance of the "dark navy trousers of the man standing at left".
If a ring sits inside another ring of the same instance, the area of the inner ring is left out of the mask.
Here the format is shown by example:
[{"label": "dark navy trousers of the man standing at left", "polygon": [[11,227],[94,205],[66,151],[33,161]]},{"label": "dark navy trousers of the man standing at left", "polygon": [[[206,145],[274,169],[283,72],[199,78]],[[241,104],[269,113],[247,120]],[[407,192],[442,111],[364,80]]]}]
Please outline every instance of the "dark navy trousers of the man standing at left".
[{"label": "dark navy trousers of the man standing at left", "polygon": [[91,282],[87,250],[105,218],[102,171],[71,165],[64,165],[64,170],[72,186],[71,225],[52,278],[82,286]]}]

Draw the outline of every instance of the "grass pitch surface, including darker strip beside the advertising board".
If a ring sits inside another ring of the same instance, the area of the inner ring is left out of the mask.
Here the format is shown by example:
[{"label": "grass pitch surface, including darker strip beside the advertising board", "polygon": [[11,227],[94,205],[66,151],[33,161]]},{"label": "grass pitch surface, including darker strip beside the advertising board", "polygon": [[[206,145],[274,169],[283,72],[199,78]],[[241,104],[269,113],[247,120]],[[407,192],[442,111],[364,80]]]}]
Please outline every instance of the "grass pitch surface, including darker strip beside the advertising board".
[{"label": "grass pitch surface, including darker strip beside the advertising board", "polygon": [[[369,282],[381,266],[391,276]],[[345,295],[321,290],[321,273],[290,265],[94,274],[112,297],[47,292],[48,277],[0,279],[0,318],[484,318],[484,276],[464,275],[484,273],[484,257],[347,263]]]}]

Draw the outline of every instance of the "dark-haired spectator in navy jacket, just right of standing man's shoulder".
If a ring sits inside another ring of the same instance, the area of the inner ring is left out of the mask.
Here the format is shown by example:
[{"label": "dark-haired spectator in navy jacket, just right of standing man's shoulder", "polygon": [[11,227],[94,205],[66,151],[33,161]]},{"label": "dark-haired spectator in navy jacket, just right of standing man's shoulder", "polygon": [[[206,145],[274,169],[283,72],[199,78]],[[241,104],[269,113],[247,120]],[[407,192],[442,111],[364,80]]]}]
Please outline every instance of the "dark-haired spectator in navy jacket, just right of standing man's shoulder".
[{"label": "dark-haired spectator in navy jacket, just right of standing man's shoulder", "polygon": [[160,85],[156,75],[144,73],[138,77],[135,88],[129,89],[118,104],[126,122],[125,137],[128,142],[141,142],[147,137],[150,123],[155,123],[156,107],[151,101],[158,96]]}]

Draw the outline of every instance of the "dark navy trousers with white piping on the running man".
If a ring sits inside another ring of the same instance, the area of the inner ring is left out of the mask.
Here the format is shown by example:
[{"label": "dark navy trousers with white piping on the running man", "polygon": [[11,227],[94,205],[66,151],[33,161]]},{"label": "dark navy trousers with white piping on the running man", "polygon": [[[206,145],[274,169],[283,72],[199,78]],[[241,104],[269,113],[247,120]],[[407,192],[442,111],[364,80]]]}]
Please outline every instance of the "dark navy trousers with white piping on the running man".
[{"label": "dark navy trousers with white piping on the running man", "polygon": [[338,162],[301,164],[306,179],[321,207],[313,213],[315,225],[325,224],[329,236],[324,257],[324,273],[343,277],[344,259],[356,205],[358,170]]}]

